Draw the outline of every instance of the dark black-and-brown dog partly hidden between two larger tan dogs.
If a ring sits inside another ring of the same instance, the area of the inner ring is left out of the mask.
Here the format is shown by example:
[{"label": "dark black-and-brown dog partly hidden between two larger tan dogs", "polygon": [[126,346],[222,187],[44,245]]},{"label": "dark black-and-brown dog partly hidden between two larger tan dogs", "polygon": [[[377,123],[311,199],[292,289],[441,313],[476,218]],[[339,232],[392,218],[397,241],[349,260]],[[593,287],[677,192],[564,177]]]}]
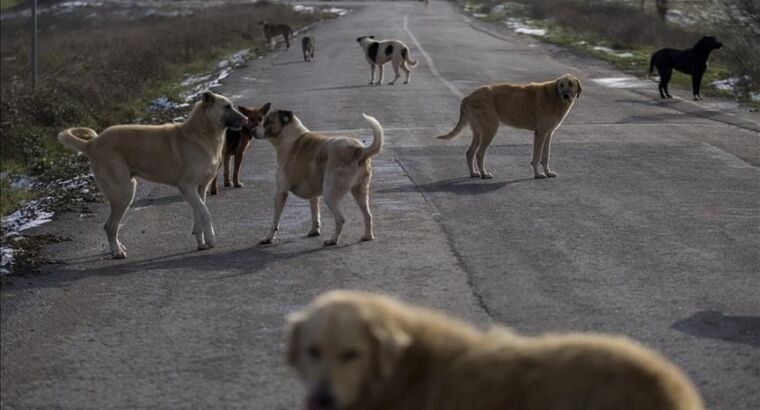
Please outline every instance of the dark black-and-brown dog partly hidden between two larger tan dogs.
[{"label": "dark black-and-brown dog partly hidden between two larger tan dogs", "polygon": [[[253,138],[253,128],[261,124],[261,120],[269,111],[270,104],[264,104],[261,108],[256,107],[243,107],[238,106],[238,110],[248,118],[246,124],[240,130],[233,130],[227,128],[227,133],[224,136],[224,150],[223,161],[224,166],[224,186],[235,185],[235,188],[242,188],[243,184],[240,182],[240,165],[243,163],[243,154],[251,144]],[[232,182],[230,183],[230,161],[232,157],[235,157],[235,170],[232,174]],[[217,179],[219,179],[219,172],[216,173],[214,181],[209,187],[209,193],[211,195],[217,194]]]}]

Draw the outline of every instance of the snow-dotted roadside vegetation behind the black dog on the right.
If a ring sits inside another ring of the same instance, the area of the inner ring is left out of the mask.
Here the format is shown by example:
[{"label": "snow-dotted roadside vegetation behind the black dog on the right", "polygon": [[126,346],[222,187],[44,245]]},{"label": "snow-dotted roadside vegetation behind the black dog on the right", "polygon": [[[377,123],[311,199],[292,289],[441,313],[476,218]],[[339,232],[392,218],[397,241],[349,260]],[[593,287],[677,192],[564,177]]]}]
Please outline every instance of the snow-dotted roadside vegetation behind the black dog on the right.
[{"label": "snow-dotted roadside vegetation behind the black dog on the right", "polygon": [[[658,2],[659,3],[659,2]],[[672,18],[663,20],[654,0],[476,0],[464,7],[486,21],[505,21],[541,30],[551,43],[583,50],[610,61],[630,74],[646,77],[649,58],[663,47],[689,48],[703,35],[715,35],[725,46],[714,52],[703,79],[703,94],[733,97],[760,107],[760,4],[754,0],[671,1]],[[692,17],[693,16],[693,17]],[[709,17],[709,18],[708,18]],[[520,30],[516,30],[520,32]],[[530,34],[529,30],[523,30]],[[656,71],[654,75],[657,75]],[[731,87],[711,83],[730,81]],[[690,88],[691,79],[676,72],[673,84]],[[753,100],[753,95],[755,100]]]}]

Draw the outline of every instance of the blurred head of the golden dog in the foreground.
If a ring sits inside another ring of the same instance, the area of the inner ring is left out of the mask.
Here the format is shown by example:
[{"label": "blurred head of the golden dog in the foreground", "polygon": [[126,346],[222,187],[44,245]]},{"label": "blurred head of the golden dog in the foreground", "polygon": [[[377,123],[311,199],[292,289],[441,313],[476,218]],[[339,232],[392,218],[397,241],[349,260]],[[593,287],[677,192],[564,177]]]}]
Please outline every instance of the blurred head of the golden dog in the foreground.
[{"label": "blurred head of the golden dog in the foreground", "polygon": [[288,362],[308,389],[309,410],[360,406],[390,380],[411,344],[371,297],[333,291],[288,317]]}]

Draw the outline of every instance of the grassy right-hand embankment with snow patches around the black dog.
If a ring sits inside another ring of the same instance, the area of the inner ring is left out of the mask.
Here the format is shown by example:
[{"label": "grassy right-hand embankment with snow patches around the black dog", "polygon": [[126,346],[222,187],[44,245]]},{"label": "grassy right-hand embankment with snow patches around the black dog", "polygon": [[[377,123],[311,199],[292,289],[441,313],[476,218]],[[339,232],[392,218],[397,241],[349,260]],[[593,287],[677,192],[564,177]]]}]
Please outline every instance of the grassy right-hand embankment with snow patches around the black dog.
[{"label": "grassy right-hand embankment with snow patches around the black dog", "polygon": [[[756,64],[750,60],[753,55],[760,56],[760,42],[748,41],[749,32],[734,30],[735,26],[729,26],[728,22],[720,27],[705,28],[704,24],[681,27],[663,23],[653,10],[642,11],[617,2],[524,0],[506,3],[507,7],[497,8],[498,11],[494,12],[494,7],[499,4],[504,3],[498,0],[475,1],[465,3],[465,7],[473,13],[480,13],[481,20],[495,22],[517,18],[529,26],[545,29],[546,35],[539,37],[541,40],[582,50],[639,77],[647,76],[649,58],[657,49],[688,48],[703,35],[716,35],[726,46],[712,54],[710,66],[702,80],[702,94],[737,98],[755,108],[760,106],[749,99],[750,93],[760,91],[760,62]],[[645,4],[649,5],[649,2]],[[596,46],[628,52],[632,56],[595,50]],[[656,71],[654,75],[657,75]],[[713,81],[736,76],[749,78],[738,95],[709,85]],[[679,72],[674,73],[671,83],[691,89],[691,77]]]}]

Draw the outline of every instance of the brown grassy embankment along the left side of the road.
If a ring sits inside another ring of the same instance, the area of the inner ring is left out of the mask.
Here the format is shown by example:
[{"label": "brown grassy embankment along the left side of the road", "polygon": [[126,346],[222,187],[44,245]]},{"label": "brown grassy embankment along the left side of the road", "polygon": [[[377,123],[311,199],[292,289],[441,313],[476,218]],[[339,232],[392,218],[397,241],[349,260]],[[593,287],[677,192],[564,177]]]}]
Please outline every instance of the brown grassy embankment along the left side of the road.
[{"label": "brown grassy embankment along the left side of the road", "polygon": [[[3,0],[2,6],[12,7]],[[132,10],[134,11],[134,10]],[[97,14],[95,14],[97,13]],[[39,87],[31,90],[27,19],[4,21],[0,33],[0,171],[41,181],[86,170],[55,141],[66,127],[96,130],[118,123],[161,123],[176,113],[146,113],[166,95],[179,101],[186,74],[207,72],[240,49],[266,47],[258,21],[302,27],[320,17],[260,1],[194,9],[182,17],[135,17],[102,7],[39,19]],[[0,179],[0,213],[34,193]]]}]

